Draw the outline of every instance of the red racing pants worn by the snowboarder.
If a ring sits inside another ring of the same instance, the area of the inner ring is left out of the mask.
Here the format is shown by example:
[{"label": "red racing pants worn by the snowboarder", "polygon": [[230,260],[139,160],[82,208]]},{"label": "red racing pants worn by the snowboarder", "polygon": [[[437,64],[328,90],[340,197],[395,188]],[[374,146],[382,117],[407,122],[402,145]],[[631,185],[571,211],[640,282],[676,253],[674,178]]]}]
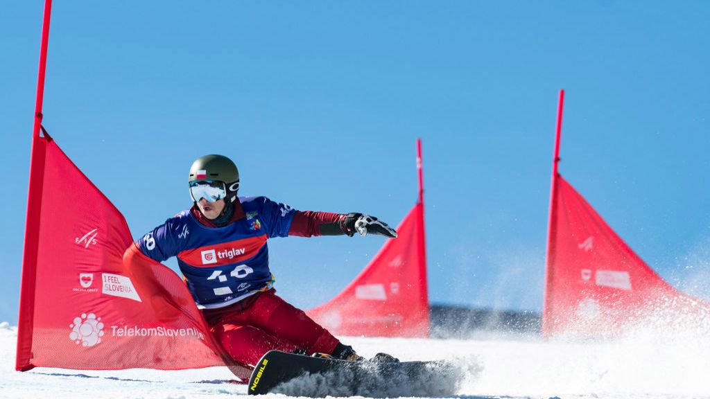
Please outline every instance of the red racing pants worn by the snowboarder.
[{"label": "red racing pants worn by the snowboarder", "polygon": [[255,365],[273,349],[331,354],[339,343],[327,329],[278,297],[273,289],[228,307],[202,310],[202,314],[222,348],[241,364]]}]

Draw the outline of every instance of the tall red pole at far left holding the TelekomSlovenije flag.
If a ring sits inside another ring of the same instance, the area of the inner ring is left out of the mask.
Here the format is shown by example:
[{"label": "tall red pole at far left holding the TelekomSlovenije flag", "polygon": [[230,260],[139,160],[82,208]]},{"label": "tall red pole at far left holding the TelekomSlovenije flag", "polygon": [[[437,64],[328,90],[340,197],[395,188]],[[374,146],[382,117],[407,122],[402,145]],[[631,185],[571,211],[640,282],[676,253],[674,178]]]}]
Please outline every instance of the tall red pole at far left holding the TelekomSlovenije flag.
[{"label": "tall red pole at far left holding the TelekomSlovenije flag", "polygon": [[30,155],[30,178],[27,195],[27,216],[25,222],[25,243],[22,258],[22,278],[20,285],[20,309],[18,312],[17,356],[15,368],[26,371],[31,365],[32,320],[34,317],[34,291],[37,278],[37,256],[39,250],[40,209],[42,208],[42,190],[44,184],[45,151],[51,138],[40,138],[42,129],[42,104],[44,99],[45,70],[47,67],[47,48],[49,43],[49,23],[52,13],[52,0],[45,0],[42,23],[42,41],[40,44],[40,65],[37,77],[37,99],[35,119],[32,131],[32,149]]}]

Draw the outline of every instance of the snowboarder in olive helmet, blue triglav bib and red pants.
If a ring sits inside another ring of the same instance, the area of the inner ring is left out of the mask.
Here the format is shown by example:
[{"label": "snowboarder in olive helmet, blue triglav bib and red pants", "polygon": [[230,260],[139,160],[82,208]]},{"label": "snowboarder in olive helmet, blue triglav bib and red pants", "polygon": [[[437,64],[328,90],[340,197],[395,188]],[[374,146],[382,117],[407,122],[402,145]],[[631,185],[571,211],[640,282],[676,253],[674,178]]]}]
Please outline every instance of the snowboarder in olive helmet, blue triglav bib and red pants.
[{"label": "snowboarder in olive helmet, blue triglav bib and red pants", "polygon": [[[276,295],[268,265],[271,237],[354,236],[397,232],[366,214],[297,211],[266,197],[237,197],[239,171],[223,155],[204,155],[190,168],[192,207],[168,219],[124,254],[162,262],[178,258],[183,279],[215,339],[241,364],[278,349],[363,358],[300,309]],[[379,360],[396,360],[378,354]]]}]

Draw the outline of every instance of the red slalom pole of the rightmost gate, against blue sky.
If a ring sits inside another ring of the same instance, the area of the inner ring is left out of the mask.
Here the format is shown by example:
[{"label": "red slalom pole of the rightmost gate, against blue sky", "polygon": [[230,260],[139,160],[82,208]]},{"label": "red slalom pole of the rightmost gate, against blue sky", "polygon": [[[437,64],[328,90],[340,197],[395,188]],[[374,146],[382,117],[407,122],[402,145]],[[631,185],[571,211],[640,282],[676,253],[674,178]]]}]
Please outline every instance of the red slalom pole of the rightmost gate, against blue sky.
[{"label": "red slalom pole of the rightmost gate, against blue sky", "polygon": [[557,127],[555,129],[555,151],[552,158],[552,182],[550,183],[550,219],[547,222],[547,253],[545,256],[545,293],[542,304],[542,337],[550,337],[550,329],[552,326],[547,322],[548,317],[547,312],[550,312],[549,303],[550,297],[548,293],[550,292],[550,280],[552,275],[550,275],[550,263],[552,262],[553,256],[555,256],[555,246],[552,244],[552,239],[556,231],[553,231],[553,226],[555,225],[557,219],[557,211],[555,210],[555,195],[557,194],[557,176],[559,175],[558,164],[559,164],[559,141],[562,136],[562,109],[564,106],[564,90],[559,90],[559,102],[557,103]]}]

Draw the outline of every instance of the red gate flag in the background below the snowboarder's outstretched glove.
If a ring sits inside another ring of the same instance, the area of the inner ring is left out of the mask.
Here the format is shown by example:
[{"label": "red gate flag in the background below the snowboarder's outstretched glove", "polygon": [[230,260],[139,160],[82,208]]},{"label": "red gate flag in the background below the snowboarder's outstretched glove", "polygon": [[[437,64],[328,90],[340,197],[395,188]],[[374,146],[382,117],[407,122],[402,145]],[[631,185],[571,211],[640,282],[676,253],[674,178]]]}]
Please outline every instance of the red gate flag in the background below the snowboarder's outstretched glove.
[{"label": "red gate flag in the background below the snowboarder's outstretched glove", "polygon": [[366,268],[342,293],[307,314],[334,334],[367,337],[428,337],[421,202],[397,227]]}]

